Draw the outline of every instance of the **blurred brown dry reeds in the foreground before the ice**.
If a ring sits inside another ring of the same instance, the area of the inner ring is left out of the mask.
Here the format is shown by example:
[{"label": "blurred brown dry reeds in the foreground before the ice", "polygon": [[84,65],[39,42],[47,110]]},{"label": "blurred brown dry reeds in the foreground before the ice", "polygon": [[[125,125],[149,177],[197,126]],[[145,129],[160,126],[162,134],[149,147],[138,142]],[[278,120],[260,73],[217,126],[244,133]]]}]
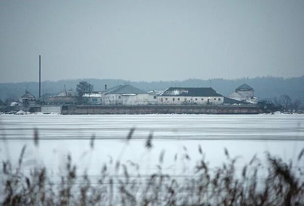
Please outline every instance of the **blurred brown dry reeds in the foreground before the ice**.
[{"label": "blurred brown dry reeds in the foreground before the ice", "polygon": [[[132,138],[131,129],[127,141]],[[34,132],[34,143],[38,147],[38,132]],[[94,148],[94,136],[90,142]],[[152,148],[152,134],[147,138],[147,150]],[[235,169],[237,158],[231,158],[225,149],[226,160],[223,165],[211,170],[204,160],[201,147],[198,153],[200,161],[195,166],[192,176],[176,179],[164,174],[163,153],[159,155],[158,172],[143,180],[139,173],[139,165],[130,162],[129,166],[121,164],[119,158],[113,164],[115,171],[111,173],[110,165],[101,165],[101,174],[91,180],[84,173],[77,175],[76,165],[67,157],[65,173],[58,175],[60,183],[47,173],[45,167],[33,167],[30,174],[24,174],[22,149],[17,169],[13,170],[9,160],[2,161],[0,171],[0,204],[11,205],[224,205],[224,206],[289,206],[304,205],[304,171],[301,167],[293,167],[292,162],[283,162],[271,154],[267,155],[267,165],[261,165],[253,156],[244,165],[241,174]],[[120,155],[119,155],[120,156]],[[299,164],[303,160],[304,149],[298,156]],[[185,160],[190,159],[187,153]],[[176,159],[175,159],[176,161]],[[130,168],[132,167],[132,168]],[[267,169],[267,176],[260,180],[258,171]],[[135,169],[136,175],[129,170]],[[118,175],[118,174],[123,174]],[[93,183],[92,183],[93,182]]]}]

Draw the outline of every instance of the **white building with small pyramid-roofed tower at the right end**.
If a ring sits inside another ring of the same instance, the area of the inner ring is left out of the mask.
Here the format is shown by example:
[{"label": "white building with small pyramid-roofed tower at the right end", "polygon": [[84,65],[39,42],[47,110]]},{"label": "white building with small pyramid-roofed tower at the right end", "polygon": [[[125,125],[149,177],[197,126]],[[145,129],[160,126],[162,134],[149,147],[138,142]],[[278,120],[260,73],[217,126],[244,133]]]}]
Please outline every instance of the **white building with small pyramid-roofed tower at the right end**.
[{"label": "white building with small pyramid-roofed tower at the right end", "polygon": [[254,97],[254,90],[251,86],[247,84],[242,84],[235,89],[229,96],[231,99],[244,101],[246,103],[257,103],[258,98]]}]

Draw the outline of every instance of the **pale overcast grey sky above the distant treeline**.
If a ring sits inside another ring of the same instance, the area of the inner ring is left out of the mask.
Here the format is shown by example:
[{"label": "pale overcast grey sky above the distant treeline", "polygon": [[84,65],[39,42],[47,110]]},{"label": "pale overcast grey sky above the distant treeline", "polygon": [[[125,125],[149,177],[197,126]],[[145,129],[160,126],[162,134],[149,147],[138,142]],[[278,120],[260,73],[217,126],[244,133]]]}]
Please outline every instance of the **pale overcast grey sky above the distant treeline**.
[{"label": "pale overcast grey sky above the distant treeline", "polygon": [[0,1],[0,82],[304,74],[304,0]]}]

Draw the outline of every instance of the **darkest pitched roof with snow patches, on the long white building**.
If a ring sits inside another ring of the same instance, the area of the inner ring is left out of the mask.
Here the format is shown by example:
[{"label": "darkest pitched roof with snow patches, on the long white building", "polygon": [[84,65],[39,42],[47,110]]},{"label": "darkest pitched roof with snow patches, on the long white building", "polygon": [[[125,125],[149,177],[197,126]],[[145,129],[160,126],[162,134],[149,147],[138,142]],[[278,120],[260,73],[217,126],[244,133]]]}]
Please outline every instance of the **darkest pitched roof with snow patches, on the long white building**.
[{"label": "darkest pitched roof with snow patches, on the long white building", "polygon": [[223,97],[211,87],[170,87],[159,96]]}]

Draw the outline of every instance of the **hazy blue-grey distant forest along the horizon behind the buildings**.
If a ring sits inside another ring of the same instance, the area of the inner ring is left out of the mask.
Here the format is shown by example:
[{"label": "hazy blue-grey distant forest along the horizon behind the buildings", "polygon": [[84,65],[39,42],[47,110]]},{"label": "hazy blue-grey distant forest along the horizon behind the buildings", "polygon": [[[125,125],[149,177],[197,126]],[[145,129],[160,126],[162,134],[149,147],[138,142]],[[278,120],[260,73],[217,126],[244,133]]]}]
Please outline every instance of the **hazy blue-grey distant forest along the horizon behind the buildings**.
[{"label": "hazy blue-grey distant forest along the horizon behind the buildings", "polygon": [[[255,77],[240,79],[186,79],[182,81],[127,81],[124,79],[67,79],[59,81],[42,81],[41,95],[56,94],[64,90],[72,89],[75,91],[79,81],[87,81],[94,86],[94,91],[104,90],[107,88],[131,84],[145,91],[166,89],[168,87],[212,87],[223,95],[229,95],[235,88],[243,83],[253,87],[254,94],[259,100],[278,98],[281,95],[288,95],[292,100],[301,100],[304,103],[304,76],[282,78],[282,77]],[[25,94],[25,90],[29,91],[35,97],[39,96],[38,82],[21,82],[21,83],[0,83],[0,99],[4,102],[7,99],[17,100]]]}]

